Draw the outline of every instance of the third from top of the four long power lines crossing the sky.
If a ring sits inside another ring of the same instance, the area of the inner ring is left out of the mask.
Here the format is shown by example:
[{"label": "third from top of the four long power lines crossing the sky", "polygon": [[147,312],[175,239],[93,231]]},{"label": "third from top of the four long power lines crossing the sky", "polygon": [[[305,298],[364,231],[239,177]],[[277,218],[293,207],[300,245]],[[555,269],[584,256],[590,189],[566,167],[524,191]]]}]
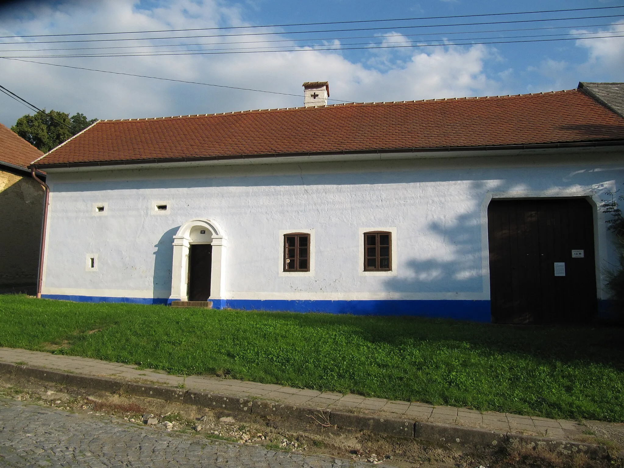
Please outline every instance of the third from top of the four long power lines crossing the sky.
[{"label": "third from top of the four long power lines crossing the sky", "polygon": [[[110,47],[59,47],[57,49],[5,49],[0,52],[45,52],[45,51],[95,51],[106,49],[146,49],[149,47],[192,47],[192,46],[221,46],[225,44],[273,44],[276,42],[303,42],[303,41],[341,41],[343,39],[379,39],[381,37],[423,37],[423,36],[444,36],[446,34],[483,34],[485,32],[518,32],[518,31],[544,31],[550,29],[577,29],[580,27],[603,27],[617,26],[613,24],[586,24],[579,26],[550,26],[550,27],[527,27],[520,29],[489,29],[487,31],[462,31],[462,32],[424,32],[421,34],[391,34],[389,36],[347,36],[347,37],[316,37],[314,39],[278,39],[274,41],[236,41],[236,42],[200,42],[196,44],[150,44],[149,46],[110,46]],[[600,34],[597,32],[579,32],[570,34]],[[563,34],[563,36],[569,34]],[[551,34],[543,34],[542,36],[552,36]],[[527,36],[510,36],[510,37],[527,37]],[[539,36],[535,36],[539,37]],[[28,44],[28,43],[22,43]],[[2,44],[0,43],[0,46]]]}]

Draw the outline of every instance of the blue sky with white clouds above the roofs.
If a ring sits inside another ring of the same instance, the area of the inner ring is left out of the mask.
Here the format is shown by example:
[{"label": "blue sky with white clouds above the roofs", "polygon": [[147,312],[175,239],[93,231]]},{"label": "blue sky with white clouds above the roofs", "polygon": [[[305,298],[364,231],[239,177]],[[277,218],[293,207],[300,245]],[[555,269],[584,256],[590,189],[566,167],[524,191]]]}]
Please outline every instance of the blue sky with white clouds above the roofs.
[{"label": "blue sky with white clouds above the roofs", "polygon": [[[624,5],[624,1],[24,1],[0,7],[0,36],[460,16],[605,7],[620,4]],[[304,81],[314,80],[329,81],[331,98],[366,102],[572,89],[580,80],[624,81],[624,37],[611,37],[618,36],[617,31],[624,31],[624,8],[535,14],[524,17],[524,19],[548,19],[552,17],[614,14],[621,14],[622,16],[556,22],[422,27],[432,24],[520,19],[520,16],[470,17],[376,24],[375,27],[384,26],[376,31],[314,34],[295,34],[294,32],[311,29],[341,29],[341,27],[371,27],[372,25],[282,27],[255,30],[279,34],[243,38],[258,42],[255,46],[268,47],[283,44],[288,47],[288,52],[270,54],[46,57],[31,59],[68,66],[271,90],[295,94],[295,96],[164,82],[162,80],[80,71],[4,59],[0,59],[0,85],[21,95],[38,107],[63,110],[71,114],[83,112],[88,117],[99,117],[100,119],[294,107],[303,102],[300,97],[301,84]],[[595,26],[588,27],[590,25]],[[403,26],[421,27],[403,29]],[[565,28],[484,32],[474,33],[470,36],[465,34],[470,31],[552,26],[565,26]],[[416,41],[416,44],[422,46],[429,44],[430,42],[425,41],[431,41],[431,39],[437,39],[437,44],[444,44],[444,41],[448,43],[459,37],[530,36],[535,34],[562,34],[571,31],[597,32],[598,35],[609,37],[584,41],[438,47],[378,47],[360,50],[348,50],[348,47],[354,46],[345,45],[349,42],[357,44],[384,42],[386,46],[389,46],[393,44],[406,45],[408,44],[406,41]],[[219,34],[226,32],[219,31]],[[431,32],[436,32],[438,35],[408,36]],[[199,35],[201,33],[193,34]],[[624,32],[619,35],[624,36]],[[310,39],[310,42],[293,41],[302,37]],[[313,39],[333,39],[336,37],[342,39],[313,41]],[[360,37],[360,39],[348,39],[349,37]],[[184,44],[193,44],[208,40],[222,43],[232,41],[232,38],[176,39],[175,41],[187,41]],[[265,42],[275,40],[284,42]],[[16,42],[11,38],[0,39],[0,41]],[[17,39],[17,41],[27,42],[28,39]],[[115,42],[115,44],[120,44],[120,42]],[[153,39],[124,44],[157,46],[164,43]],[[301,51],[302,46],[306,44],[316,44],[316,49],[318,49],[319,44],[335,45],[333,46],[334,50],[331,51],[310,50],[310,47],[308,50]],[[78,43],[71,44],[71,46],[89,47],[93,44]],[[51,46],[51,44],[0,45],[0,49],[3,51],[7,51],[11,47],[26,52],[2,52],[2,55],[20,56],[21,54],[23,57],[32,54],[50,54],[51,52],[34,52],[33,49],[58,46]],[[220,46],[187,46],[180,50],[193,48],[206,50],[210,47],[227,48],[235,46],[224,44]],[[157,50],[157,48],[144,48],[142,50]],[[161,48],[160,50],[165,49]],[[9,99],[6,95],[0,94],[0,122],[2,124],[12,125],[17,117],[27,112],[30,111],[26,107]]]}]

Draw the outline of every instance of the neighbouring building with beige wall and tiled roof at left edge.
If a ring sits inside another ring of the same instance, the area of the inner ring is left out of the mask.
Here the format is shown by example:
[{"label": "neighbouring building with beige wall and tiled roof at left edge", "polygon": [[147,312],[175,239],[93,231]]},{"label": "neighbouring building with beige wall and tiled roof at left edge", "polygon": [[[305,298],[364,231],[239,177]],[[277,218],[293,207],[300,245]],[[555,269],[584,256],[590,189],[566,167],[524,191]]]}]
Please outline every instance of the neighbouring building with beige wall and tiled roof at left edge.
[{"label": "neighbouring building with beige wall and tiled roof at left edge", "polygon": [[36,292],[44,190],[27,166],[42,154],[0,124],[0,293]]}]

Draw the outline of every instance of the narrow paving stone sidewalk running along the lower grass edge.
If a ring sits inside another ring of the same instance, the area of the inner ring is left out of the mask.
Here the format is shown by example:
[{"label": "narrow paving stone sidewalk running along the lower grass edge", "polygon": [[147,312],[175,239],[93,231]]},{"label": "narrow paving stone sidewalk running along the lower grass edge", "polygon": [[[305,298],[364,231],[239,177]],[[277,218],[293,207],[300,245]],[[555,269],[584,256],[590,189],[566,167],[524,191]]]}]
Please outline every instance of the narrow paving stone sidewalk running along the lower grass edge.
[{"label": "narrow paving stone sidewalk running along the lower grass edge", "polygon": [[261,397],[263,399],[317,408],[341,409],[343,411],[404,416],[420,422],[442,422],[469,427],[483,427],[497,431],[515,432],[547,437],[574,439],[585,429],[575,421],[547,419],[545,417],[519,416],[517,414],[474,411],[454,406],[432,406],[419,402],[389,401],[383,398],[367,398],[354,394],[319,392],[273,384],[222,379],[212,376],[175,376],[154,369],[137,369],[127,364],[109,363],[99,359],[62,356],[28,351],[26,349],[0,348],[0,362],[29,364],[36,367],[58,369],[77,374],[104,376],[130,381],[149,381],[165,386],[232,396]]}]

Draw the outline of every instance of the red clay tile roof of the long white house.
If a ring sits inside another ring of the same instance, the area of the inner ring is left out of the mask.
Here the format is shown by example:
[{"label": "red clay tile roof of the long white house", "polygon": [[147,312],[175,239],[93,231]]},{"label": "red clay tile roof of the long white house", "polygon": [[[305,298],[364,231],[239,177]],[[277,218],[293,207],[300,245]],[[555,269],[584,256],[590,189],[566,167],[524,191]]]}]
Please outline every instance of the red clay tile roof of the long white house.
[{"label": "red clay tile roof of the long white house", "polygon": [[580,90],[103,120],[37,165],[624,140],[624,119]]}]

